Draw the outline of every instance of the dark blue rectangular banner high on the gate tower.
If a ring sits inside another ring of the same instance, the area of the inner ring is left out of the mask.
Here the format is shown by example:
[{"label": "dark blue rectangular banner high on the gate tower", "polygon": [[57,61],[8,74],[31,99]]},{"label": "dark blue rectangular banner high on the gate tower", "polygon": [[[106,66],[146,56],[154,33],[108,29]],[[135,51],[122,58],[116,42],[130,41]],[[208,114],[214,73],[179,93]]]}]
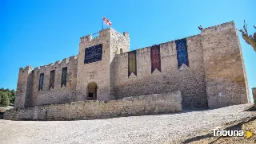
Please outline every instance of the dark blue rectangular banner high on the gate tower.
[{"label": "dark blue rectangular banner high on the gate tower", "polygon": [[102,60],[102,44],[86,48],[85,64],[93,63],[99,60]]}]

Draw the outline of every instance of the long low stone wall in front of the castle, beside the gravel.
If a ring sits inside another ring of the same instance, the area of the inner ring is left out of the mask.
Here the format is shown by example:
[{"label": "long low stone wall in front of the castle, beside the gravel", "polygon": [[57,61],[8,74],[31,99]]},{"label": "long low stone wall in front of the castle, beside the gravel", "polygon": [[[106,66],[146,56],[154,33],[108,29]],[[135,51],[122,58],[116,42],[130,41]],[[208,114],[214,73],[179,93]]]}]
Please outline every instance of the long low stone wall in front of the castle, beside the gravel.
[{"label": "long low stone wall in front of the castle, beside the gravel", "polygon": [[6,111],[4,119],[11,120],[74,120],[106,119],[129,115],[150,115],[182,111],[180,91],[143,95],[110,101],[81,101],[51,104]]}]

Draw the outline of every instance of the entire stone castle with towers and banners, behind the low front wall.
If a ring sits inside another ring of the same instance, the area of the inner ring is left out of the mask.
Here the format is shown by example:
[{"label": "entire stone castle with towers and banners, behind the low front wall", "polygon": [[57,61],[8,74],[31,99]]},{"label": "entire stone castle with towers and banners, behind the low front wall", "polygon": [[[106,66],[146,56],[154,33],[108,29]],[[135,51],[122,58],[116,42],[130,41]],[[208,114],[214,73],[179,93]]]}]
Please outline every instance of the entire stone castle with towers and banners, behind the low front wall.
[{"label": "entire stone castle with towers and banners, behind the low front wall", "polygon": [[250,103],[246,71],[233,21],[195,36],[130,52],[128,33],[112,28],[80,38],[78,56],[38,68],[20,68],[14,107],[181,91],[182,107]]}]

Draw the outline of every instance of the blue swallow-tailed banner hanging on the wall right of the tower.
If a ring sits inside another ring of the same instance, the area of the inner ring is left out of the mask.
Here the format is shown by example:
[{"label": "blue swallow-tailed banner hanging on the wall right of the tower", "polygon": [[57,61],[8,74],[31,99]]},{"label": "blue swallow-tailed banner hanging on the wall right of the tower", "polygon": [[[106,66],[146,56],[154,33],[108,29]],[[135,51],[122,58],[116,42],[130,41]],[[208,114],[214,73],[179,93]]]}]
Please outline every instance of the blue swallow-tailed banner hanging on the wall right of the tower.
[{"label": "blue swallow-tailed banner hanging on the wall right of the tower", "polygon": [[177,50],[178,68],[180,68],[182,64],[186,64],[186,66],[189,67],[186,38],[183,38],[181,40],[176,40],[175,43],[176,43],[176,50]]}]

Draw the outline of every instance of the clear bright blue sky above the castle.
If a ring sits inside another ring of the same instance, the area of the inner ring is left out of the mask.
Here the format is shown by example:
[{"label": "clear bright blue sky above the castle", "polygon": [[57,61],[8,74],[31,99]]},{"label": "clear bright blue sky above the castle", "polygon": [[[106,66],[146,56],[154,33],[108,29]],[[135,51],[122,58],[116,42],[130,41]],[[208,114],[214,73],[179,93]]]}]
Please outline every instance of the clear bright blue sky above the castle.
[{"label": "clear bright blue sky above the castle", "polygon": [[[256,32],[255,0],[0,1],[0,88],[16,89],[18,69],[78,54],[79,38],[102,29],[102,16],[130,34],[130,50],[174,41],[234,21]],[[256,53],[239,36],[250,88],[256,88]]]}]

